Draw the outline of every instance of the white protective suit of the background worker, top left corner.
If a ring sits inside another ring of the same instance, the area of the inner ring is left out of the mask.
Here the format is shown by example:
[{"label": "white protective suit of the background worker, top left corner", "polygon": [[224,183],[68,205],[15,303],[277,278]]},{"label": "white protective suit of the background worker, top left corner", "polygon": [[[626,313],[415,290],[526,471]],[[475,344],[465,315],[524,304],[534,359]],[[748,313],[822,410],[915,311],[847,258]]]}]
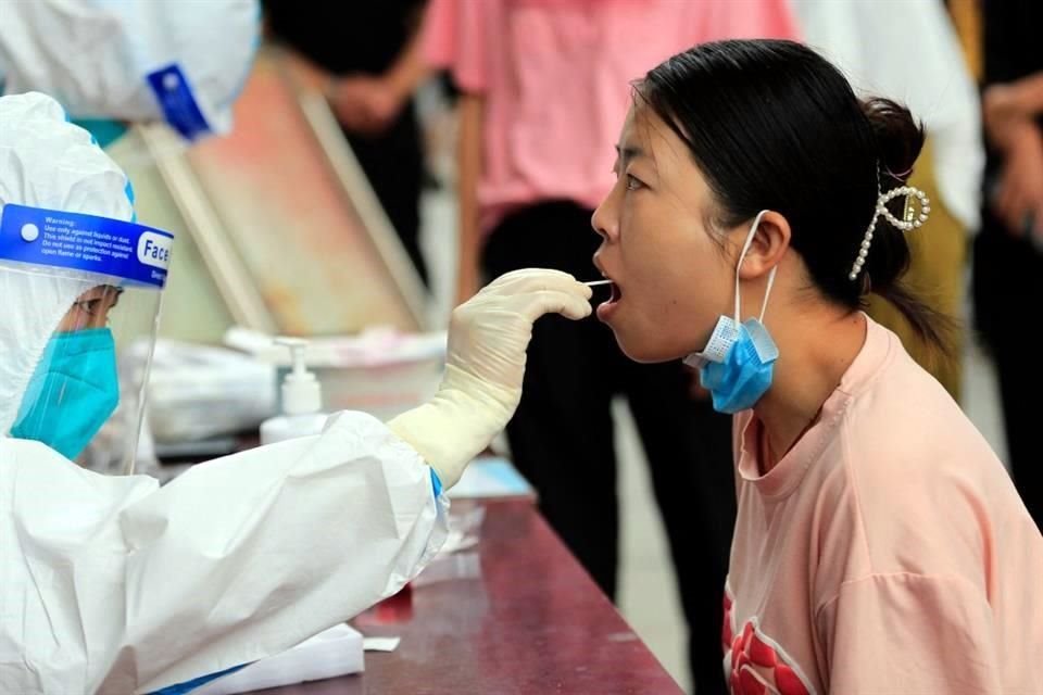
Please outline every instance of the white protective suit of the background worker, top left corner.
[{"label": "white protective suit of the background worker, top left corner", "polygon": [[53,96],[74,118],[169,121],[147,76],[177,63],[215,132],[260,40],[256,0],[5,2],[0,74],[7,93]]}]

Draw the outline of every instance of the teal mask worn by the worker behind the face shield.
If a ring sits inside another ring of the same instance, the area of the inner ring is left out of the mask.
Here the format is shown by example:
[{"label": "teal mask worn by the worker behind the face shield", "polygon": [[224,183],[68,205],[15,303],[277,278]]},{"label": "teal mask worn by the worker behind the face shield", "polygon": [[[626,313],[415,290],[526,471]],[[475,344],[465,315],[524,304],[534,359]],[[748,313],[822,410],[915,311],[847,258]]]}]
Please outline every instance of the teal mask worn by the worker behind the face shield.
[{"label": "teal mask worn by the worker behind the face shield", "polygon": [[108,328],[55,333],[29,379],[11,435],[76,458],[120,403],[116,349]]}]

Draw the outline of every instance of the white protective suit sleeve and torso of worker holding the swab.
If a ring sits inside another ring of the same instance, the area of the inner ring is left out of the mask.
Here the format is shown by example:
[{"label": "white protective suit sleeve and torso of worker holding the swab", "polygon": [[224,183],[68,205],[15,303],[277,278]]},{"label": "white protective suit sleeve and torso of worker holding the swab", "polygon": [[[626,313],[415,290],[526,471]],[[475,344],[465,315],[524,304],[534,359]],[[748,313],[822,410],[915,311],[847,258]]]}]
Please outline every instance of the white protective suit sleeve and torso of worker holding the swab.
[{"label": "white protective suit sleeve and torso of worker holding the swab", "polygon": [[149,693],[278,654],[397,592],[445,538],[431,469],[359,413],[162,489],[0,444],[2,692]]}]

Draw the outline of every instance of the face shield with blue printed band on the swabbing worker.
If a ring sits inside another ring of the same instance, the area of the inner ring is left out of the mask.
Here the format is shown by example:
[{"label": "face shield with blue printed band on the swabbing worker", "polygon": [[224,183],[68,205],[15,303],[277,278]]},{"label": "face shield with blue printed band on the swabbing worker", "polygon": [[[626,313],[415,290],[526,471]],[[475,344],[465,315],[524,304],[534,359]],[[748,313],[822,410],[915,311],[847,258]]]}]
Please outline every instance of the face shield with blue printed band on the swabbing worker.
[{"label": "face shield with blue printed band on the swabbing worker", "polygon": [[[0,288],[22,303],[28,361],[10,435],[70,459],[100,432],[101,466],[131,470],[173,236],[106,217],[22,205],[0,211]],[[146,351],[121,390],[127,351]],[[35,359],[34,359],[35,357]],[[126,387],[130,387],[128,390]],[[117,417],[115,417],[117,416]]]}]

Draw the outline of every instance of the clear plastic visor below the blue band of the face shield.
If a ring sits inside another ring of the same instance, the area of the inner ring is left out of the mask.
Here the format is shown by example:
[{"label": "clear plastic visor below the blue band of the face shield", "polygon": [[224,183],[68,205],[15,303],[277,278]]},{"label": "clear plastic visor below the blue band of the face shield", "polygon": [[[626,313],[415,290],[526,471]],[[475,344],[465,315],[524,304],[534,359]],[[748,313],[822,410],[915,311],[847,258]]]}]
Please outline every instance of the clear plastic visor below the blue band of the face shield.
[{"label": "clear plastic visor below the blue band of the face shield", "polygon": [[[27,341],[38,357],[27,375],[10,433],[42,442],[104,472],[134,466],[162,292],[118,278],[50,274],[0,262],[4,285],[58,286],[67,303],[40,306],[50,332]],[[32,307],[25,307],[32,311]],[[32,362],[32,355],[30,359]]]}]

